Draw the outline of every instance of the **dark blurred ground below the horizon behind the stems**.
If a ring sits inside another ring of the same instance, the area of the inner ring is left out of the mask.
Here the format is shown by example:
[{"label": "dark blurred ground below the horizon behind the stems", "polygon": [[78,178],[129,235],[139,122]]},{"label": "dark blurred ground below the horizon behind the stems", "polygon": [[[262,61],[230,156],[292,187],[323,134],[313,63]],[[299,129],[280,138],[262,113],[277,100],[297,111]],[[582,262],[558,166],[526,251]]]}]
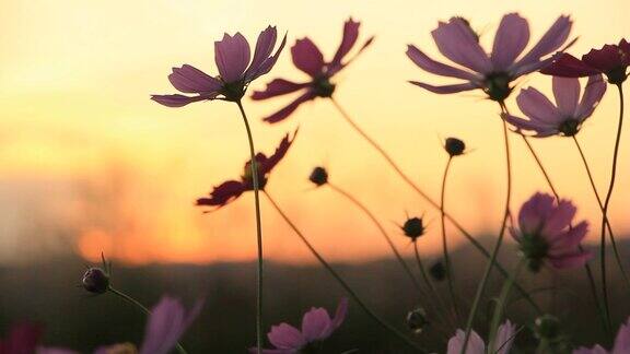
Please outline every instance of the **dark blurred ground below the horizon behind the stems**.
[{"label": "dark blurred ground below the horizon behind the stems", "polygon": [[[628,245],[623,249],[629,250]],[[505,250],[503,256],[514,255]],[[469,248],[457,250],[457,290],[463,306],[469,306],[482,271],[482,258]],[[411,261],[411,260],[410,260]],[[502,257],[510,268],[514,259]],[[427,263],[431,263],[427,260]],[[410,262],[410,264],[413,264]],[[598,266],[593,263],[595,270]],[[361,296],[387,321],[412,335],[405,327],[409,309],[418,305],[417,293],[390,260],[363,264],[337,264],[338,270],[358,290]],[[615,270],[612,263],[610,269]],[[143,333],[144,316],[121,299],[109,294],[88,296],[77,287],[84,271],[79,259],[57,260],[22,268],[0,268],[0,331],[19,320],[45,326],[46,344],[63,345],[82,352],[112,342],[139,343]],[[537,303],[563,320],[564,329],[572,333],[574,343],[591,344],[600,341],[603,332],[587,287],[584,270],[562,273],[544,271],[536,278],[527,274],[521,283],[535,293]],[[269,263],[266,270],[266,323],[288,321],[299,324],[304,310],[324,306],[334,310],[343,292],[318,267],[289,267]],[[162,294],[183,298],[189,305],[197,297],[206,297],[200,318],[187,332],[183,342],[189,353],[245,353],[254,335],[255,267],[253,263],[197,266],[150,266],[114,269],[114,285],[152,306]],[[609,280],[614,327],[630,315],[628,290],[619,274]],[[502,284],[499,276],[492,281],[488,294],[497,295]],[[446,296],[444,283],[438,284]],[[555,286],[556,291],[544,288]],[[513,321],[529,324],[532,307],[517,300],[508,308]],[[489,304],[489,303],[486,303]],[[433,307],[435,304],[427,304]],[[486,310],[488,307],[486,306]],[[529,319],[529,321],[528,321]],[[477,326],[485,333],[485,326]],[[444,344],[434,337],[416,337],[425,347],[443,353]],[[532,342],[529,330],[517,339],[523,353]],[[325,353],[341,353],[358,349],[358,353],[407,353],[400,343],[384,332],[350,303],[350,312],[343,327],[327,342]]]}]

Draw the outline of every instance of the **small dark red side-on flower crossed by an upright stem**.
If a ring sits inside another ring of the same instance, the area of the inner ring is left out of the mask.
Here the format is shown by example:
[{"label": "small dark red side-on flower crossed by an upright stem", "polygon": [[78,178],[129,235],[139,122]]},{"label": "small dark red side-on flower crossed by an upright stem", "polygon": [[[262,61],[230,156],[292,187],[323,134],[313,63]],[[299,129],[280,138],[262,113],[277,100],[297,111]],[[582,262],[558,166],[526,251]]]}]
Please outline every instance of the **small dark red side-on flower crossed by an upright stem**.
[{"label": "small dark red side-on flower crossed by an upright stem", "polygon": [[[289,134],[284,135],[284,139],[282,139],[280,145],[271,156],[267,157],[264,153],[256,154],[256,166],[258,166],[258,182],[260,189],[265,189],[269,173],[271,173],[271,169],[273,169],[282,157],[284,157],[287,151],[289,151],[289,148],[291,148],[291,144],[295,140],[295,134],[298,134],[298,131],[293,133],[292,139],[289,139]],[[241,176],[241,180],[229,180],[214,187],[210,192],[210,197],[199,198],[197,200],[197,205],[221,208],[241,197],[244,192],[254,190],[250,164],[250,161],[245,164],[244,174]]]}]

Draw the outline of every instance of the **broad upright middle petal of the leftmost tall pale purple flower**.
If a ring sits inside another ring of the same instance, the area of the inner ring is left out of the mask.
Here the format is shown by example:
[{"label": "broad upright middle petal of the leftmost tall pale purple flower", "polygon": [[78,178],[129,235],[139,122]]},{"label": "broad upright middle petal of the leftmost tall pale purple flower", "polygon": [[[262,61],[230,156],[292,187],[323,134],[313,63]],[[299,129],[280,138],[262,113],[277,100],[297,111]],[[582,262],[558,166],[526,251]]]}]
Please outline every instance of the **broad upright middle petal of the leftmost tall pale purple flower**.
[{"label": "broad upright middle petal of the leftmost tall pale purple flower", "polygon": [[235,83],[243,78],[249,56],[249,44],[241,33],[233,37],[224,34],[223,39],[214,42],[214,61],[225,83]]}]

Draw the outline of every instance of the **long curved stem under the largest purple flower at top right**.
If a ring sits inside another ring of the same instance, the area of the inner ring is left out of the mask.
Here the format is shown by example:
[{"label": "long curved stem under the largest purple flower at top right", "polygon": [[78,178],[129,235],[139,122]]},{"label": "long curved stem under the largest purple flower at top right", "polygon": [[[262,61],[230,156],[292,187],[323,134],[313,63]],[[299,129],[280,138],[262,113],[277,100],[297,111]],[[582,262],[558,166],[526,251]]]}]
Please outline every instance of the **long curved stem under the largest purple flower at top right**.
[{"label": "long curved stem under the largest purple flower at top right", "polygon": [[[501,105],[503,107],[503,104]],[[508,172],[508,191],[505,196],[505,212],[503,214],[503,221],[501,222],[501,228],[499,229],[499,238],[492,250],[492,256],[483,271],[483,276],[481,278],[481,283],[477,287],[477,294],[475,295],[475,300],[472,302],[472,307],[468,314],[468,320],[466,321],[466,334],[464,335],[464,343],[462,345],[462,351],[459,354],[466,353],[466,347],[468,346],[468,340],[470,339],[470,332],[472,331],[472,324],[475,323],[475,318],[477,317],[477,311],[479,310],[479,304],[481,303],[481,297],[483,296],[483,291],[490,279],[490,273],[492,272],[493,263],[497,260],[499,250],[501,249],[501,244],[503,243],[503,236],[505,234],[505,228],[508,226],[508,219],[510,216],[510,201],[512,199],[512,163],[510,158],[510,139],[508,137],[508,123],[502,120],[503,123],[503,140],[505,144],[505,167]]]}]

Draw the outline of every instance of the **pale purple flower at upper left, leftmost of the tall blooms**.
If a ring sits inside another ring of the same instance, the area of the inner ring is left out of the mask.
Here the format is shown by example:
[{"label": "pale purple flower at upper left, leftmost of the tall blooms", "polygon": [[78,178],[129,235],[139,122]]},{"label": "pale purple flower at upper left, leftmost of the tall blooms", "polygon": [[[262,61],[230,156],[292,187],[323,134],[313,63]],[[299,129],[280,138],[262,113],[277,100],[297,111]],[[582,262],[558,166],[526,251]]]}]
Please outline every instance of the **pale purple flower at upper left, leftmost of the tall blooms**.
[{"label": "pale purple flower at upper left, leftmost of the tall blooms", "polygon": [[168,107],[182,107],[189,103],[206,99],[241,101],[247,85],[256,78],[268,73],[276,64],[287,35],[280,47],[271,55],[277,39],[276,27],[267,27],[258,36],[254,58],[250,59],[249,44],[241,34],[223,35],[223,39],[214,42],[214,61],[219,69],[218,76],[210,76],[189,64],[173,68],[168,81],[178,91],[189,95],[152,95],[151,99]]}]

